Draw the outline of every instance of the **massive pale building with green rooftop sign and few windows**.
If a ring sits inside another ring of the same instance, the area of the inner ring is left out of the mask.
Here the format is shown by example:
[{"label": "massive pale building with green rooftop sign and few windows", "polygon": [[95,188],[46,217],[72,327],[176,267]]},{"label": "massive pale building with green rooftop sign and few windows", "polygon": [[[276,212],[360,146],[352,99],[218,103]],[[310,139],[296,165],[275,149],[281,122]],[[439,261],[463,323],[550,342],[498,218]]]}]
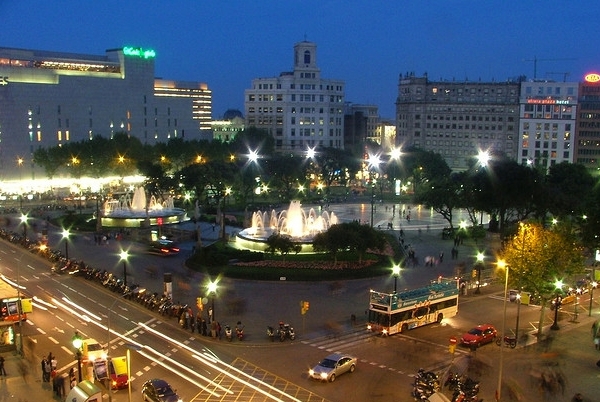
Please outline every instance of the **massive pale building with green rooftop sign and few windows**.
[{"label": "massive pale building with green rooftop sign and few windows", "polygon": [[204,137],[208,86],[155,79],[155,57],[136,47],[103,56],[0,48],[0,179],[44,178],[36,149],[96,135],[127,132],[149,144]]}]

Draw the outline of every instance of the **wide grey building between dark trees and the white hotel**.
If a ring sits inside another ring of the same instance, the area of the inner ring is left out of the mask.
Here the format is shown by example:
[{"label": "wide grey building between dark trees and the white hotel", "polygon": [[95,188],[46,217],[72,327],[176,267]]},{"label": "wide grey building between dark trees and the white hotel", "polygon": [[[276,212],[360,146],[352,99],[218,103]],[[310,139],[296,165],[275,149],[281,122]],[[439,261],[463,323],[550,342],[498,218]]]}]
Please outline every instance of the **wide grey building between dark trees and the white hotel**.
[{"label": "wide grey building between dark trees and the white hotel", "polygon": [[430,81],[400,76],[396,145],[439,153],[465,170],[480,150],[515,159],[519,124],[517,81]]}]

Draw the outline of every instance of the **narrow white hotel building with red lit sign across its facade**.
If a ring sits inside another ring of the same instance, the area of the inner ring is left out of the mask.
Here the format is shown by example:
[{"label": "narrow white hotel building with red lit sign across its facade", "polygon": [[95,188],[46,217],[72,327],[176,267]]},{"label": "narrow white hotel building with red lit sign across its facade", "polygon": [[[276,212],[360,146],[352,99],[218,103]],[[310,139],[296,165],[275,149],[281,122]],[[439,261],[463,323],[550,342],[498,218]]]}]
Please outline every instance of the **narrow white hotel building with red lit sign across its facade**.
[{"label": "narrow white hotel building with red lit sign across its facade", "polygon": [[574,162],[577,82],[521,83],[517,161],[547,171]]}]

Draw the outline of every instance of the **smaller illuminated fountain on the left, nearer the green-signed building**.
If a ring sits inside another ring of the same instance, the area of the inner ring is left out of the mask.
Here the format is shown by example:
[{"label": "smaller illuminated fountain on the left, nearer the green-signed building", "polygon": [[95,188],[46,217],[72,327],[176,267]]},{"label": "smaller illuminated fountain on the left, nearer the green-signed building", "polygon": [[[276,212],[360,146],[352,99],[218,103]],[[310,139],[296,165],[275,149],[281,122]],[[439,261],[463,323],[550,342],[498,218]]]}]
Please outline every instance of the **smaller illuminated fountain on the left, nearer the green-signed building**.
[{"label": "smaller illuminated fountain on the left, nearer the green-signed building", "polygon": [[173,206],[173,197],[161,203],[152,196],[148,201],[144,188],[138,187],[133,196],[127,193],[118,200],[107,200],[101,220],[104,227],[142,227],[180,223],[188,217],[183,209]]}]

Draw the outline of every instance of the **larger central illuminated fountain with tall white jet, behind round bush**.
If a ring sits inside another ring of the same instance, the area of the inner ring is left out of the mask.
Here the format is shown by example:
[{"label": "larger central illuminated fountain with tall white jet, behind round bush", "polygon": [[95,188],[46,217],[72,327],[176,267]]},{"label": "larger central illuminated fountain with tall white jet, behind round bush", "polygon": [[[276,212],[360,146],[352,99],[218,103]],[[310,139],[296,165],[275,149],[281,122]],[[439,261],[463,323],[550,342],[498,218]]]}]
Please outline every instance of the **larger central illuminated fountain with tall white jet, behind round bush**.
[{"label": "larger central illuminated fountain with tall white jet, behind round bush", "polygon": [[300,201],[292,201],[287,210],[277,213],[254,212],[252,226],[238,233],[236,242],[242,248],[264,250],[266,240],[272,234],[290,236],[292,241],[300,243],[303,251],[312,251],[312,239],[331,225],[338,223],[337,216],[324,211],[318,215],[314,208],[303,210]]}]

